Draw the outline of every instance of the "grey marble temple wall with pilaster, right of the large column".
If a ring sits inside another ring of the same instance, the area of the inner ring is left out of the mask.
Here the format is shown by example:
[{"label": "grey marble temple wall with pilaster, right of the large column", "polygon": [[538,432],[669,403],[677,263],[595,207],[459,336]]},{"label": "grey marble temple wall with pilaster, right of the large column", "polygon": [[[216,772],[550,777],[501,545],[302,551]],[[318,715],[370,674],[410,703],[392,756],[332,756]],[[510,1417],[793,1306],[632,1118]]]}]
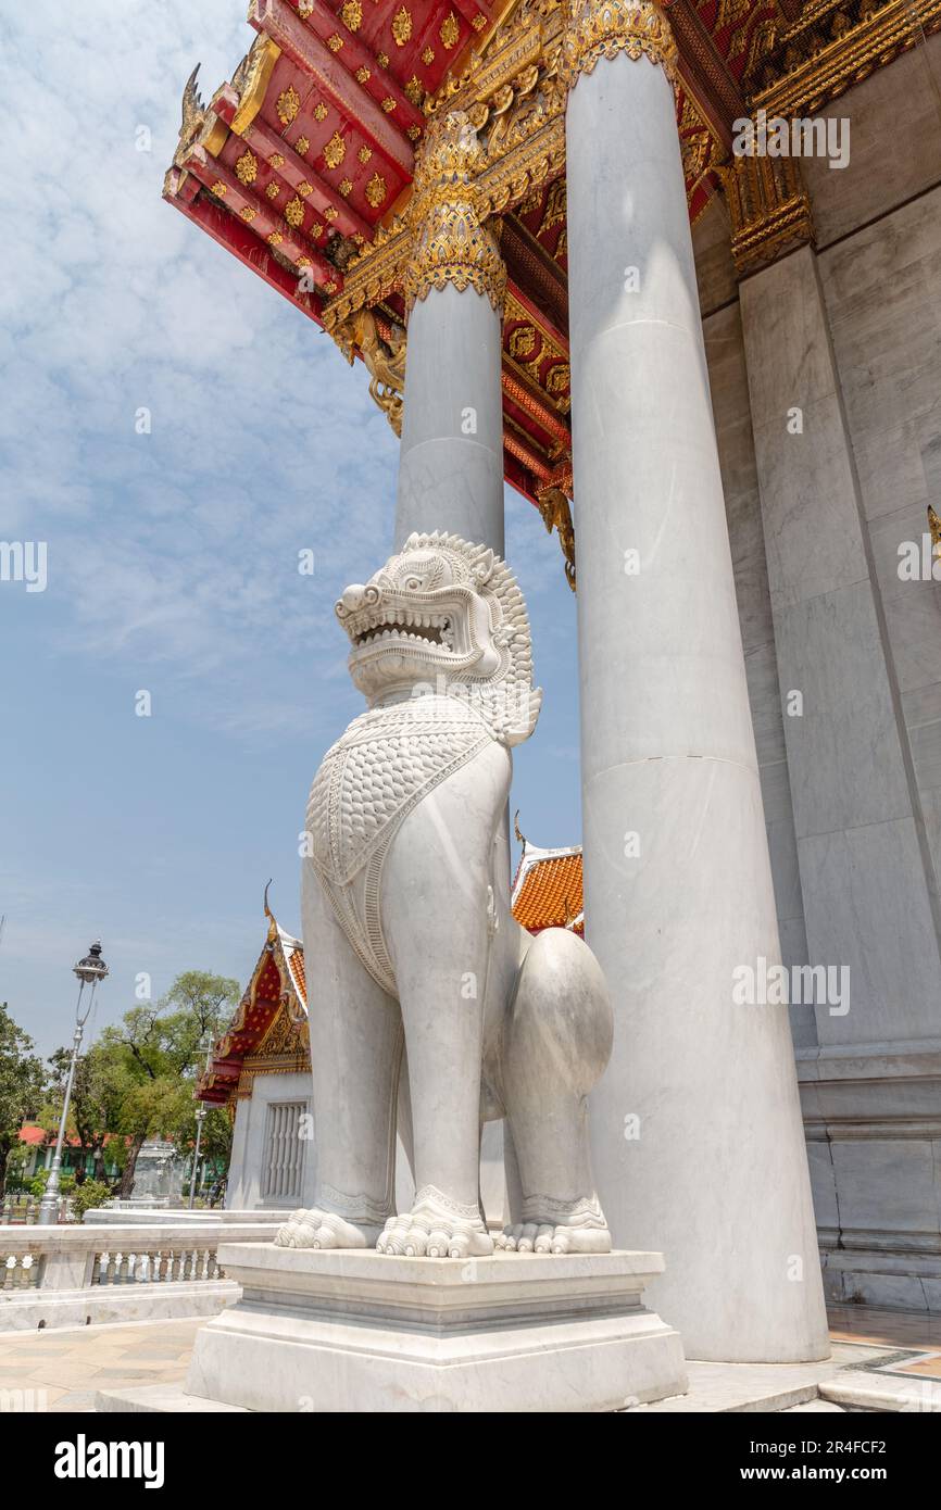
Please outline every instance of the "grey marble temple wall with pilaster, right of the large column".
[{"label": "grey marble temple wall with pilaster, right of the large column", "polygon": [[737,285],[720,198],[693,237],[782,959],[849,968],[791,1004],[825,1284],[932,1311],[941,581],[900,560],[941,512],[939,100],[933,38],[823,112],[816,246]]}]

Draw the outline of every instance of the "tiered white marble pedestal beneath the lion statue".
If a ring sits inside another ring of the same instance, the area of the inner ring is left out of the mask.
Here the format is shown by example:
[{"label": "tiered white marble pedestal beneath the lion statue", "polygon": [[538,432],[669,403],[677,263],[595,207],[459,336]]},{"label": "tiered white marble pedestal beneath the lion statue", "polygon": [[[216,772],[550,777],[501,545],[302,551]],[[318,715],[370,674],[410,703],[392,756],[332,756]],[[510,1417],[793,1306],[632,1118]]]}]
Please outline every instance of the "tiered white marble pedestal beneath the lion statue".
[{"label": "tiered white marble pedestal beneath the lion statue", "polygon": [[687,1388],[680,1335],[640,1299],[663,1270],[660,1253],[462,1264],[234,1243],[219,1262],[243,1296],[196,1338],[186,1392],[202,1401],[266,1412],[568,1412],[619,1410]]}]

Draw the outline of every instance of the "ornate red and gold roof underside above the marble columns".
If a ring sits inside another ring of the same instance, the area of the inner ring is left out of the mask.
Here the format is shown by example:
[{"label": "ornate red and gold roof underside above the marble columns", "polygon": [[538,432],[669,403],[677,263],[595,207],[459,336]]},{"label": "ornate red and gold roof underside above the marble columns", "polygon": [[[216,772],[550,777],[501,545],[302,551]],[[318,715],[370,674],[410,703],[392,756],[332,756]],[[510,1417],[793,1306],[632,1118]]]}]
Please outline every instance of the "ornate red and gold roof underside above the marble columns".
[{"label": "ornate red and gold roof underside above the marble columns", "polygon": [[[813,225],[796,168],[745,181],[736,122],[760,106],[816,110],[941,27],[941,0],[660,8],[690,219],[727,189],[740,273]],[[257,38],[231,82],[208,106],[195,77],[186,88],[166,198],[363,356],[399,427],[415,151],[429,116],[467,112],[476,204],[508,273],[504,471],[548,527],[571,530],[563,0],[252,0],[248,20]],[[571,550],[566,571],[574,583]]]}]

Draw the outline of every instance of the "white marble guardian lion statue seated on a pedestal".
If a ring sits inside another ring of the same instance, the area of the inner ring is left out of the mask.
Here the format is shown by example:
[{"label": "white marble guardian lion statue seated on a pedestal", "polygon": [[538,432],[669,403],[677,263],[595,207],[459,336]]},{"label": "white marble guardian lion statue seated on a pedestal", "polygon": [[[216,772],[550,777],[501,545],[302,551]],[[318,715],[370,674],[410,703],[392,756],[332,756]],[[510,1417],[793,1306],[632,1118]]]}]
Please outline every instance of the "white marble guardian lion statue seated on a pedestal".
[{"label": "white marble guardian lion statue seated on a pedestal", "polygon": [[[588,1092],[612,1046],[604,977],[575,933],[532,938],[509,908],[511,746],[542,698],[523,595],[492,551],[412,535],[346,589],[337,618],[369,710],[328,750],[307,809],[317,1203],[275,1241],[609,1252],[588,1142]],[[396,1214],[400,1107],[417,1194]],[[521,1187],[495,1244],[479,1205],[494,1117],[509,1122]]]}]

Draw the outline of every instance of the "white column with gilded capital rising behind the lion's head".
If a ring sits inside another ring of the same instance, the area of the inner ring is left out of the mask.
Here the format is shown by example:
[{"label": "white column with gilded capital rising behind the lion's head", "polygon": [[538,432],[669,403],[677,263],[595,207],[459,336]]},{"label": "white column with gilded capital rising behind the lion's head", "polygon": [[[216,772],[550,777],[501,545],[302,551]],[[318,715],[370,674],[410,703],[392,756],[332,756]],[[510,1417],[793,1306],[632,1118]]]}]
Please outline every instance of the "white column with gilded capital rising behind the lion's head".
[{"label": "white column with gilded capital rising behind the lion's head", "polygon": [[506,273],[476,219],[477,159],[455,112],[429,131],[415,175],[396,545],[412,530],[450,530],[503,556]]}]

